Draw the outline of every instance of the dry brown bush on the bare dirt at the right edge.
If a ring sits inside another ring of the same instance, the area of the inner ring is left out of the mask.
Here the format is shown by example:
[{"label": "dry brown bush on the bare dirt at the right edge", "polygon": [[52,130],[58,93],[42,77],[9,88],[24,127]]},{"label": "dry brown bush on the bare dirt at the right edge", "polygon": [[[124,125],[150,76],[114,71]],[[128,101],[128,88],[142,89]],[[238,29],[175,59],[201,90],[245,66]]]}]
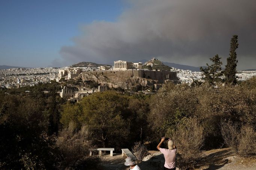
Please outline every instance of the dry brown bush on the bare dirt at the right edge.
[{"label": "dry brown bush on the bare dirt at the right edge", "polygon": [[221,133],[227,146],[241,157],[256,155],[256,132],[250,125],[239,129],[236,123],[221,122]]}]

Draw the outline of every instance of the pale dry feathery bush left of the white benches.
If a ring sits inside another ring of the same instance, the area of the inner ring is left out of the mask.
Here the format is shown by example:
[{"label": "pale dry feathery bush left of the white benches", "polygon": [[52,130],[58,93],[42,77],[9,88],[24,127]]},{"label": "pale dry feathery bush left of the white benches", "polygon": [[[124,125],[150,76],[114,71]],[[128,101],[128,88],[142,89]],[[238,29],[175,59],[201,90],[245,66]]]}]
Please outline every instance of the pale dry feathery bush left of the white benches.
[{"label": "pale dry feathery bush left of the white benches", "polygon": [[[98,157],[89,156],[89,149],[92,148],[91,143],[87,140],[89,132],[86,126],[76,132],[75,124],[69,123],[69,127],[60,132],[57,137],[56,145],[60,148],[66,169],[92,169],[96,168],[101,162]],[[92,165],[92,167],[90,167]]]}]

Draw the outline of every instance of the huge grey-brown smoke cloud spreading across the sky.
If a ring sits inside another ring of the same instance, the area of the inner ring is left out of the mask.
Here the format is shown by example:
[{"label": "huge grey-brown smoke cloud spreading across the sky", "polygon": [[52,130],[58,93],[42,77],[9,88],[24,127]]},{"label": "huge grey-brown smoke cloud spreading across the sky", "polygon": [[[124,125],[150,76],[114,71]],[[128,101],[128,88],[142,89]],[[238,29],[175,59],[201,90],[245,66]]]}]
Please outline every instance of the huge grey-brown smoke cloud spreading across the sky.
[{"label": "huge grey-brown smoke cloud spreading across the sky", "polygon": [[256,68],[255,0],[131,0],[117,22],[95,21],[81,28],[64,60],[112,63],[153,57],[192,66],[229,54],[238,35],[238,69]]}]

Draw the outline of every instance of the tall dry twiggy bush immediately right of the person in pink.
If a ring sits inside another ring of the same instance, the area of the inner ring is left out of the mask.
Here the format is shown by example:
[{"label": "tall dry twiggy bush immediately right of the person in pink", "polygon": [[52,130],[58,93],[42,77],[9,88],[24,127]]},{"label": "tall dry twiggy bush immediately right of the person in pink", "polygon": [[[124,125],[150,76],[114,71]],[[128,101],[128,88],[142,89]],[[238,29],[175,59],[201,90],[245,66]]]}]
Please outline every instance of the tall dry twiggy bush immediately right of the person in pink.
[{"label": "tall dry twiggy bush immediately right of the person in pink", "polygon": [[177,147],[177,166],[180,169],[193,168],[202,158],[203,128],[196,118],[187,118],[184,123],[178,124],[173,134]]}]

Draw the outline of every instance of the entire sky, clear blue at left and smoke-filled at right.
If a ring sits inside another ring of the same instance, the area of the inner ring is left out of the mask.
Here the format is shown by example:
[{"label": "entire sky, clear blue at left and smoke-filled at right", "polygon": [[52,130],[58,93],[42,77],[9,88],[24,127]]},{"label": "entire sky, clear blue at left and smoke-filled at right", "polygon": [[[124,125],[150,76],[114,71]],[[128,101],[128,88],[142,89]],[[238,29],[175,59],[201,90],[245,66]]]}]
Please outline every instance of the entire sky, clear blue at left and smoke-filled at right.
[{"label": "entire sky, clear blue at left and smoke-filled at right", "polygon": [[255,0],[1,0],[0,65],[62,67],[158,58],[256,69]]}]

